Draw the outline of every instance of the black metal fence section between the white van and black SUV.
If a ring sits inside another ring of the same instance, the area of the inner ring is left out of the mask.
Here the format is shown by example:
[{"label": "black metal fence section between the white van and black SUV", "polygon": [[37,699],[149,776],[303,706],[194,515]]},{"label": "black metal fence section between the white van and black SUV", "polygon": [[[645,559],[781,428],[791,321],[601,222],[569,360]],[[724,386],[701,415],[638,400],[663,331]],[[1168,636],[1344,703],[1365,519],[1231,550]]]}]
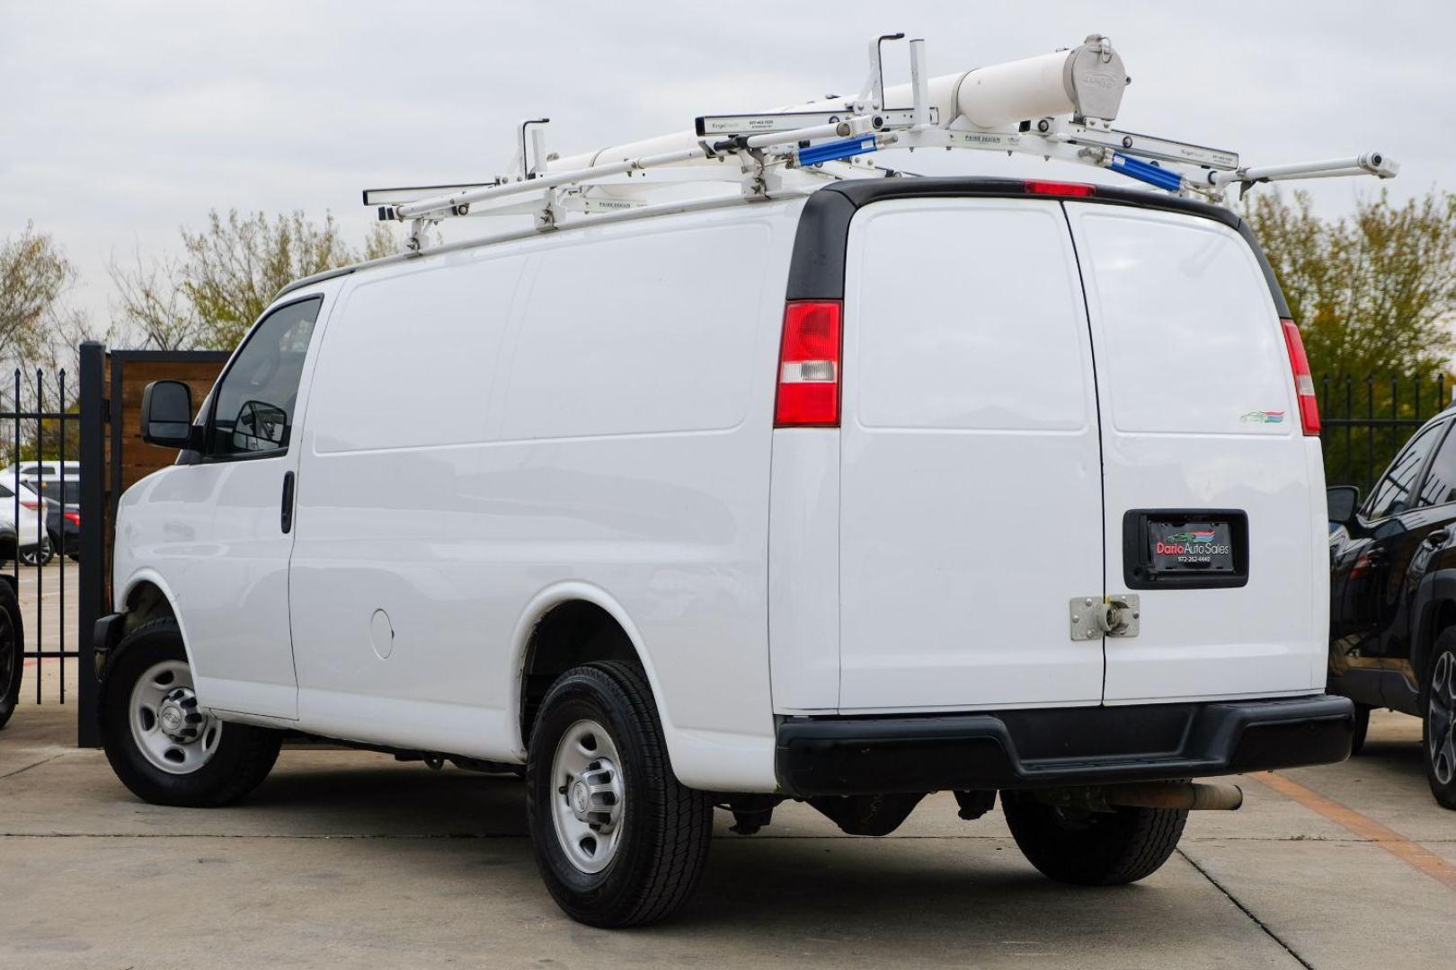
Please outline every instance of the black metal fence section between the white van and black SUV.
[{"label": "black metal fence section between the white van and black SUV", "polygon": [[1369,493],[1415,429],[1450,404],[1452,390],[1444,374],[1318,380],[1325,480]]}]

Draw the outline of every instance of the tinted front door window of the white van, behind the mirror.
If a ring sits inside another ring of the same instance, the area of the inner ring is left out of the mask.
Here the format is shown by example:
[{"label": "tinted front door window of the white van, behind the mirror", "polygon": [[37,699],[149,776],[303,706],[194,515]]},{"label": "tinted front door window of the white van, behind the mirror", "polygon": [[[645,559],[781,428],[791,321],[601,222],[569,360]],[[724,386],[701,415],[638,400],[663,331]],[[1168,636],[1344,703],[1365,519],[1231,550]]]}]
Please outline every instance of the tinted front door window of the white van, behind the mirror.
[{"label": "tinted front door window of the white van, behind the mirror", "polygon": [[303,361],[322,297],[280,307],[253,327],[213,396],[207,455],[282,454],[288,449]]}]

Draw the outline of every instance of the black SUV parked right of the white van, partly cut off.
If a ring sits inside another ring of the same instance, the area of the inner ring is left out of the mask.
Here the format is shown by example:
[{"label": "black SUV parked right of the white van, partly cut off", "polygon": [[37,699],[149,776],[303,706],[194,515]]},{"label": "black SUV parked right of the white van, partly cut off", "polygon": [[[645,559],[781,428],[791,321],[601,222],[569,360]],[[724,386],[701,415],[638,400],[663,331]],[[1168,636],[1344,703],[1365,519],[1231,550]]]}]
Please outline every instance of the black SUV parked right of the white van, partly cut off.
[{"label": "black SUV parked right of the white van, partly cut off", "polygon": [[1405,444],[1370,496],[1329,489],[1329,691],[1424,720],[1425,775],[1456,809],[1456,409]]}]

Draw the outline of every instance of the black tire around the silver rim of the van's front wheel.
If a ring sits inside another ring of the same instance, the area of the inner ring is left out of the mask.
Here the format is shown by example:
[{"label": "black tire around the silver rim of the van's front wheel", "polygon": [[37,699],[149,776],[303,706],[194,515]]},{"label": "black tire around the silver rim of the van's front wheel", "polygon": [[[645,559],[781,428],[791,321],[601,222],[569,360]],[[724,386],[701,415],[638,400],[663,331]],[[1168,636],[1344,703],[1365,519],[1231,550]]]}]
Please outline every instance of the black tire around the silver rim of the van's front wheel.
[{"label": "black tire around the silver rim of the van's front wheel", "polygon": [[98,688],[98,721],[112,771],[134,795],[160,806],[211,809],[237,801],[268,777],[278,759],[282,733],[249,724],[224,724],[211,758],[191,774],[169,774],[153,765],[131,726],[131,692],[138,679],[166,660],[186,663],[176,621],[153,620],[137,627],[106,659]]}]

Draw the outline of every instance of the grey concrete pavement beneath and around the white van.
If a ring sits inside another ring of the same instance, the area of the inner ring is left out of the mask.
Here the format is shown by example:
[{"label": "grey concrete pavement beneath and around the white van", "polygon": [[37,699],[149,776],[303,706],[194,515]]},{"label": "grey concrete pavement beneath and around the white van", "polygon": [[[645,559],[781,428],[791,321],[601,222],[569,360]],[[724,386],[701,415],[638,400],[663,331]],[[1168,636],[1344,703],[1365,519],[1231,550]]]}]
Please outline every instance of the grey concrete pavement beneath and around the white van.
[{"label": "grey concrete pavement beneath and around the white van", "polygon": [[[285,750],[223,810],[132,798],[74,708],[0,731],[0,967],[1443,967],[1456,889],[1287,794],[1242,779],[1137,886],[1040,877],[994,811],[927,798],[885,839],[783,806],[719,825],[671,923],[604,932],[542,887],[513,779],[383,755]],[[1377,716],[1369,753],[1284,772],[1456,874],[1456,813],[1425,788],[1418,723]]]}]

